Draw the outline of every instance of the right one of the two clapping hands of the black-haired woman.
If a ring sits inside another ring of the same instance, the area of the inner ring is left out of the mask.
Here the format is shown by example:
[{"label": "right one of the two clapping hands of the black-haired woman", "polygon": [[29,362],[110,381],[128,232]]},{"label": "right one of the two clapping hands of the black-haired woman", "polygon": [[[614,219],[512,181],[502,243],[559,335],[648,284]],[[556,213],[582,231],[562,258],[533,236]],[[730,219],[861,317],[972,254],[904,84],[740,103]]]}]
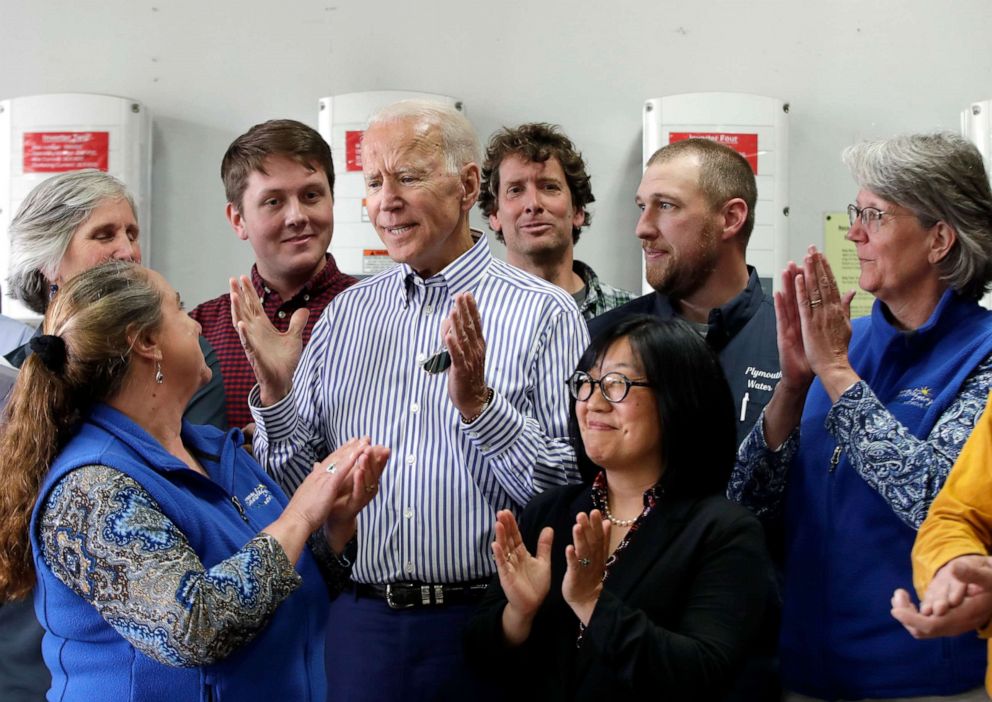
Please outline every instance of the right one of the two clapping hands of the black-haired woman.
[{"label": "right one of the two clapping hands of the black-haired woman", "polygon": [[565,548],[567,570],[561,594],[575,616],[589,624],[603,591],[603,574],[610,555],[610,523],[598,509],[580,512],[572,527],[572,543]]}]

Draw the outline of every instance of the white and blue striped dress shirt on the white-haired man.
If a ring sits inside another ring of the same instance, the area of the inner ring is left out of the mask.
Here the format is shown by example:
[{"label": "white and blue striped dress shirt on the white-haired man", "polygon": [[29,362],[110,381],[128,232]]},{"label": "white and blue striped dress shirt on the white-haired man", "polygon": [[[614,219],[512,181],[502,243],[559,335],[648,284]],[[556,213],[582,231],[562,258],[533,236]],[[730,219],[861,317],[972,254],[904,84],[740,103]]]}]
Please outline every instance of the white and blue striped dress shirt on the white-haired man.
[{"label": "white and blue striped dress shirt on the white-haired man", "polygon": [[[475,296],[495,391],[472,424],[448,397],[447,373],[421,367],[459,292]],[[572,298],[494,258],[485,237],[427,280],[395,266],[327,306],[284,400],[261,408],[252,391],[255,455],[291,493],[315,460],[371,436],[392,454],[359,515],[353,579],[488,577],[496,511],[519,515],[535,493],[579,479],[565,380],[588,340]]]}]

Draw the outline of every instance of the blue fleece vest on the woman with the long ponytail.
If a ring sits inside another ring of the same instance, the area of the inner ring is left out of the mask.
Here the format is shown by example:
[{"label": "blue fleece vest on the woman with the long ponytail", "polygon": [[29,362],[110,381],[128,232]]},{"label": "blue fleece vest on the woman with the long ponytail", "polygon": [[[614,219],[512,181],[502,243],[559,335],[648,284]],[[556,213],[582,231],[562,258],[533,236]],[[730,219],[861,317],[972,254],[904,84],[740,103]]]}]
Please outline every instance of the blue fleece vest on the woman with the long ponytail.
[{"label": "blue fleece vest on the woman with the long ponytail", "polygon": [[[52,465],[37,504],[45,504],[53,487],[73,469],[110,466],[151,494],[209,568],[271,524],[288,500],[241,449],[240,431],[225,435],[213,427],[183,422],[182,438],[213,480],[186,468],[121,413],[98,406]],[[232,498],[237,498],[240,508]],[[216,664],[174,668],[136,650],[95,608],[52,574],[40,555],[39,511],[36,506],[31,546],[38,574],[35,610],[45,628],[42,654],[52,671],[48,699],[325,699],[328,597],[306,550],[296,566],[302,587],[279,605],[258,636]],[[136,635],[155,637],[156,632]]]}]

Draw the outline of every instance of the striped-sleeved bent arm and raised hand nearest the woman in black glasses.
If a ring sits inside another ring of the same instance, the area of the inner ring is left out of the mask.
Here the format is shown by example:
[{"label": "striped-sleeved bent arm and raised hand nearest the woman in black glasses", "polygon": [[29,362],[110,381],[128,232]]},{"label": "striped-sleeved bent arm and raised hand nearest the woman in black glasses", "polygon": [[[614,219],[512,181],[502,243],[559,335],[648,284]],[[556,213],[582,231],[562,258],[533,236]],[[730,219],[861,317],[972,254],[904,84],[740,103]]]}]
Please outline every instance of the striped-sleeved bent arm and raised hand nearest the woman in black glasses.
[{"label": "striped-sleeved bent arm and raised hand nearest the woman in black glasses", "polygon": [[495,390],[486,405],[491,389],[485,379],[486,344],[471,293],[455,295],[441,333],[451,354],[448,394],[462,416],[460,428],[513,501],[522,507],[537,492],[578,482],[575,451],[568,440],[565,384],[589,341],[578,309],[562,308],[531,347],[532,412],[526,414]]}]

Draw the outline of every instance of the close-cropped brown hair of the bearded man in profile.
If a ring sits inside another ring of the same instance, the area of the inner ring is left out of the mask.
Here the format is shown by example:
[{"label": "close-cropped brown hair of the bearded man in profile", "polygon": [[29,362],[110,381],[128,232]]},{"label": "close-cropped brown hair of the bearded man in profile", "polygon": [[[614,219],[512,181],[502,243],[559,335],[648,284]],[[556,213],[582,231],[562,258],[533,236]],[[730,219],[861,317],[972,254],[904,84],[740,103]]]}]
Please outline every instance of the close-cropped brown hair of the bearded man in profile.
[{"label": "close-cropped brown hair of the bearded man in profile", "polygon": [[758,185],[751,164],[729,146],[694,137],[661,147],[648,159],[646,168],[689,155],[699,159],[699,188],[710,207],[717,209],[734,198],[747,204],[747,218],[737,233],[741,243],[747,246],[754,230],[754,207],[758,201]]}]

